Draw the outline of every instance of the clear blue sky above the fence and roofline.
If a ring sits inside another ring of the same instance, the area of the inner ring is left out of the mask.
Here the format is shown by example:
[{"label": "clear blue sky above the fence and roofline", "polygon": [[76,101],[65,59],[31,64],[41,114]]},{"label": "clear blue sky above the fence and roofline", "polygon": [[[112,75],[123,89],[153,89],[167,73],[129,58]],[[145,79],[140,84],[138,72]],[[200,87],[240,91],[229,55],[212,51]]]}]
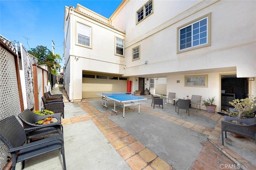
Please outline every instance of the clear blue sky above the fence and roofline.
[{"label": "clear blue sky above the fence and roofline", "polygon": [[[109,18],[122,0],[0,0],[0,34],[29,50],[43,45],[63,55],[65,6],[81,4]],[[28,39],[28,42],[27,42]],[[64,62],[64,61],[62,61]],[[62,66],[64,63],[60,63]]]}]

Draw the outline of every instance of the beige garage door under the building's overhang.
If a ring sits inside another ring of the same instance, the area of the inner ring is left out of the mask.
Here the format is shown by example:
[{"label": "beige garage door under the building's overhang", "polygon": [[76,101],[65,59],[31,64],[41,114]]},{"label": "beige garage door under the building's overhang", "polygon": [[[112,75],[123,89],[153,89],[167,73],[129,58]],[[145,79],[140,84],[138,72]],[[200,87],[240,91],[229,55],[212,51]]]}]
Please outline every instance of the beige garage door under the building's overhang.
[{"label": "beige garage door under the building's overhang", "polygon": [[126,92],[127,78],[83,74],[82,98],[98,98],[98,92]]}]

